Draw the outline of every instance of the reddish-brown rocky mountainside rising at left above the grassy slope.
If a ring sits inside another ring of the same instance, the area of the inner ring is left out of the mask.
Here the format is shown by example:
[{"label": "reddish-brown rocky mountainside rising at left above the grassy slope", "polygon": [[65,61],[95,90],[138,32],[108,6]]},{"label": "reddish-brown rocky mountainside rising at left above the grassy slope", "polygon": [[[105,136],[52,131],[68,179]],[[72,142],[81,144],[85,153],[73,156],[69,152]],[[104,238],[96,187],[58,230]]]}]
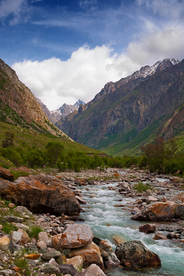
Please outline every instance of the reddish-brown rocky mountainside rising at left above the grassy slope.
[{"label": "reddish-brown rocky mountainside rising at left above the grassy slope", "polygon": [[65,135],[51,124],[30,89],[2,59],[0,59],[0,114],[1,122],[60,137]]}]

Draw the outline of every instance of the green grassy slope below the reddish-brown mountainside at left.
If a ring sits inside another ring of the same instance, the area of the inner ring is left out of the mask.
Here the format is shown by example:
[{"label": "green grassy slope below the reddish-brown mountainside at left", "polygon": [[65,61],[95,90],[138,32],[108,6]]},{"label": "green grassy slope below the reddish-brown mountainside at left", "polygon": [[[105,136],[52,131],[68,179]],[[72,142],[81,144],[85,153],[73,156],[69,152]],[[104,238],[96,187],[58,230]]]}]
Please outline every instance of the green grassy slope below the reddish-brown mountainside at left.
[{"label": "green grassy slope below the reddish-brown mountainside at left", "polygon": [[[21,131],[22,129],[22,131]],[[29,133],[29,129],[23,127],[17,127],[11,124],[6,124],[0,122],[0,144],[4,139],[4,134],[6,131],[14,133],[14,145],[21,146],[22,148],[28,149],[29,147],[35,146],[35,149],[44,149],[49,141],[61,141],[64,146],[64,152],[70,151],[81,151],[86,153],[97,153],[103,154],[104,152],[98,151],[96,149],[88,148],[85,145],[72,142],[70,140],[59,139],[54,135],[45,135],[32,130],[33,133]],[[39,135],[38,135],[39,134]]]}]

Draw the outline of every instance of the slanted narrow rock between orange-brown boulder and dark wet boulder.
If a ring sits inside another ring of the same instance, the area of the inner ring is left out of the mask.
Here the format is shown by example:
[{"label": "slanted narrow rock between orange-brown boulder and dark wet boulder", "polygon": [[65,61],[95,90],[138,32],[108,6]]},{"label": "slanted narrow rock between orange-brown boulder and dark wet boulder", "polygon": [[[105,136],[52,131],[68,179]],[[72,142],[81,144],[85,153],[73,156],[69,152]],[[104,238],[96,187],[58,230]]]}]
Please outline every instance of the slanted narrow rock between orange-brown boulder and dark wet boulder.
[{"label": "slanted narrow rock between orange-brown boulder and dark wet boulder", "polygon": [[116,257],[112,247],[106,240],[102,240],[99,244],[100,253],[106,267],[120,265],[120,261]]}]

